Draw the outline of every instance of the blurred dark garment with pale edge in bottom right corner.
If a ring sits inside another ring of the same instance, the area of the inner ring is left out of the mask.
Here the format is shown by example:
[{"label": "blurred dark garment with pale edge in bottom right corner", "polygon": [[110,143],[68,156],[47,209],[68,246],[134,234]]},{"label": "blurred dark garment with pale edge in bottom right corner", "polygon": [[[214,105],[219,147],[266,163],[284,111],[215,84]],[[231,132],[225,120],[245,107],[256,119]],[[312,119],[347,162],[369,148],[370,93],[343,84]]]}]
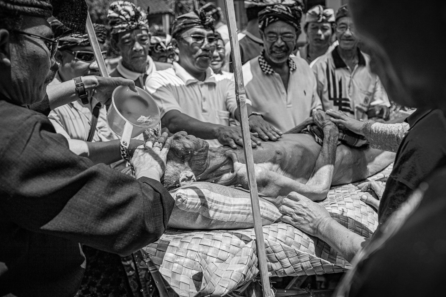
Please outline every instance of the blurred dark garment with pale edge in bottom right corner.
[{"label": "blurred dark garment with pale edge in bottom right corner", "polygon": [[[442,296],[446,263],[446,167],[373,237],[336,296]],[[417,197],[418,196],[418,197]],[[421,201],[420,201],[421,200]]]}]

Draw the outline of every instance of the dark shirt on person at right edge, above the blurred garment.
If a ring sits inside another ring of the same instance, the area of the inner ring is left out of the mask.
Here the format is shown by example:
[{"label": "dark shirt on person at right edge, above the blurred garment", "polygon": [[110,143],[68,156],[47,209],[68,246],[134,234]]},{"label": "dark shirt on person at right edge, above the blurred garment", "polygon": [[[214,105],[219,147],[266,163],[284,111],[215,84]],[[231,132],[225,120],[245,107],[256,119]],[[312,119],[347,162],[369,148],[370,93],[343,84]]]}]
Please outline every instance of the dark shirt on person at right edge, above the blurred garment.
[{"label": "dark shirt on person at right edge, above the blurred garment", "polygon": [[427,175],[443,165],[446,156],[446,119],[441,110],[416,110],[407,122],[410,129],[398,148],[380,201],[380,225]]}]

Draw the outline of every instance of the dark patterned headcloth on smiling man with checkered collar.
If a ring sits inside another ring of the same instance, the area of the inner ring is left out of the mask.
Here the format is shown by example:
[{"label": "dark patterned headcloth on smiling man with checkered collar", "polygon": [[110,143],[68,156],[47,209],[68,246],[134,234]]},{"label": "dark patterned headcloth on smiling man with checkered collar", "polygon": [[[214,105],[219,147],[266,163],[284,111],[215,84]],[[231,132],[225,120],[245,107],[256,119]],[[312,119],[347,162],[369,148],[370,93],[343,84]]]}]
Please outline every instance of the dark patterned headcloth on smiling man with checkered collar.
[{"label": "dark patterned headcloth on smiling man with checkered collar", "polygon": [[269,24],[282,20],[292,25],[296,31],[301,29],[302,5],[294,0],[285,0],[281,4],[267,6],[259,12],[259,28],[264,30]]}]

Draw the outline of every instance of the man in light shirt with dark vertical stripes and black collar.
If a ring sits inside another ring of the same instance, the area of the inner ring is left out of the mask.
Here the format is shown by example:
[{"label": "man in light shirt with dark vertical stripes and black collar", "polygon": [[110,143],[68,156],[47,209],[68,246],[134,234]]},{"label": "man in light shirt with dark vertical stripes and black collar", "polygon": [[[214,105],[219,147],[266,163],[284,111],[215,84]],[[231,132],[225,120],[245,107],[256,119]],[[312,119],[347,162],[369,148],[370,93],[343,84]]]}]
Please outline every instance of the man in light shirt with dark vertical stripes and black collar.
[{"label": "man in light shirt with dark vertical stripes and black collar", "polygon": [[312,66],[324,110],[341,110],[358,120],[388,119],[390,102],[370,72],[370,58],[359,50],[347,4],[336,12],[336,37],[339,45]]}]

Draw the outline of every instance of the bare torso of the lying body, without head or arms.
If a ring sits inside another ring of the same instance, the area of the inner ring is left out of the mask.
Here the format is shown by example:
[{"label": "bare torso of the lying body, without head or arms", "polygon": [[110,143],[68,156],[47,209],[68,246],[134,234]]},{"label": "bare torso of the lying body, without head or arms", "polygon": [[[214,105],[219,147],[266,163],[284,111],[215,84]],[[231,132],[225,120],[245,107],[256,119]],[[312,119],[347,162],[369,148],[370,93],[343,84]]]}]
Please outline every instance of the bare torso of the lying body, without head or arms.
[{"label": "bare torso of the lying body, without head or arms", "polygon": [[[288,176],[300,183],[306,183],[313,173],[322,146],[309,134],[283,134],[279,140],[262,142],[252,149],[254,163]],[[224,147],[222,154],[232,150]],[[235,153],[245,163],[243,148]],[[332,185],[352,183],[376,174],[393,162],[395,153],[372,148],[358,149],[340,145],[336,148],[335,170]],[[215,166],[214,167],[218,167]],[[215,179],[215,177],[213,177]],[[208,181],[208,180],[202,180]]]}]

